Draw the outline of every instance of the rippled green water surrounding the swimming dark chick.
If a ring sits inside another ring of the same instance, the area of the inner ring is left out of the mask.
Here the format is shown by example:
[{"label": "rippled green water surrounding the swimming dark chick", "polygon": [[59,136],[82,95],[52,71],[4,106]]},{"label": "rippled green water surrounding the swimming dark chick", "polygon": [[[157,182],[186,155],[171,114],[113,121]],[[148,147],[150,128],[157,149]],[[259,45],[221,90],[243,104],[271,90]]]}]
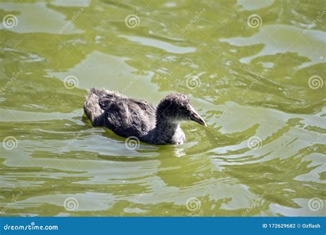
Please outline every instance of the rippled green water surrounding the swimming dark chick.
[{"label": "rippled green water surrounding the swimming dark chick", "polygon": [[[0,25],[0,211],[325,215],[325,7],[1,1],[17,21]],[[180,146],[126,148],[83,115],[91,87],[153,104],[186,93],[208,127],[182,124]]]}]

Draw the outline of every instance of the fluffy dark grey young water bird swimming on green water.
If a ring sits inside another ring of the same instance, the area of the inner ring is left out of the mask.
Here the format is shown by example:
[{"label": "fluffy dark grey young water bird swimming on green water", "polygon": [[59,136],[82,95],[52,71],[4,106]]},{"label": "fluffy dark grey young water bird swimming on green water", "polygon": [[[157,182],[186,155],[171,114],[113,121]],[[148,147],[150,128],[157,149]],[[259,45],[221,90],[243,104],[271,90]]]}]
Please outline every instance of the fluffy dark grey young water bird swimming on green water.
[{"label": "fluffy dark grey young water bird swimming on green water", "polygon": [[93,126],[105,126],[122,137],[154,145],[183,144],[186,136],[180,128],[182,122],[207,126],[183,93],[171,93],[155,107],[120,92],[92,88],[84,111]]}]

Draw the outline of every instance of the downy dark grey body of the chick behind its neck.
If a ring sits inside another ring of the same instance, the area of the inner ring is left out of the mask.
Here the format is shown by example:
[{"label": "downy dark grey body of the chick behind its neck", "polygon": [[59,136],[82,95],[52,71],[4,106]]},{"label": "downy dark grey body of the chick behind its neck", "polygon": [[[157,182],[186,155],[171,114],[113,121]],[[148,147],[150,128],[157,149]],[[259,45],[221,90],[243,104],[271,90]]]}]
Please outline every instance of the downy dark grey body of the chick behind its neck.
[{"label": "downy dark grey body of the chick behind its neck", "polygon": [[84,110],[94,126],[106,126],[122,137],[141,140],[155,127],[153,104],[105,89],[91,89]]}]

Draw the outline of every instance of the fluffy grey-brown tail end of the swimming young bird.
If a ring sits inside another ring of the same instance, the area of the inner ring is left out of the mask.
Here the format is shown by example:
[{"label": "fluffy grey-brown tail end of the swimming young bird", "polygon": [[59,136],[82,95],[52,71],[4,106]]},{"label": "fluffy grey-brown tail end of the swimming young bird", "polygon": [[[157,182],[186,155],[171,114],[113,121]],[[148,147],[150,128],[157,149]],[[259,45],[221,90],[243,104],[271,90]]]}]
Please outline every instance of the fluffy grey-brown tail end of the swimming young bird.
[{"label": "fluffy grey-brown tail end of the swimming young bird", "polygon": [[89,90],[84,104],[84,112],[93,126],[102,126],[103,124],[103,110],[100,107],[99,99],[100,91],[92,88]]}]

